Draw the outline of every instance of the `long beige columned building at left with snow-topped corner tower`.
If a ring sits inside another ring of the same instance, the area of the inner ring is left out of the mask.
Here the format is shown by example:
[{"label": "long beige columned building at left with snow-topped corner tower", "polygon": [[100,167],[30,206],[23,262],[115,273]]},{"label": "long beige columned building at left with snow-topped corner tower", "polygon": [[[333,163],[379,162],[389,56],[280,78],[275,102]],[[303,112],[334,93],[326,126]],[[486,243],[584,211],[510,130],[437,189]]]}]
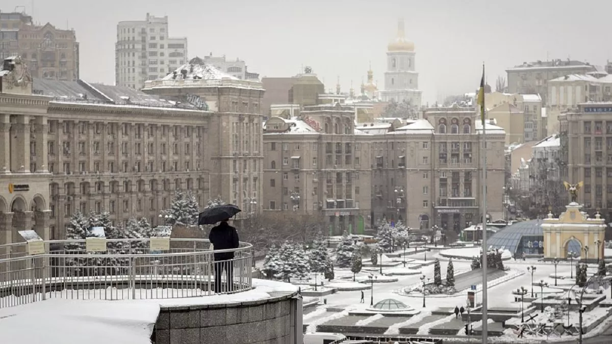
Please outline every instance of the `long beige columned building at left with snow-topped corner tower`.
[{"label": "long beige columned building at left with snow-topped corner tower", "polygon": [[19,59],[5,61],[0,244],[32,227],[64,237],[75,211],[157,225],[177,189],[192,190],[201,204],[220,196],[245,214],[259,212],[261,84],[192,62],[184,67],[195,74],[152,81],[143,94],[81,80],[32,83]]}]

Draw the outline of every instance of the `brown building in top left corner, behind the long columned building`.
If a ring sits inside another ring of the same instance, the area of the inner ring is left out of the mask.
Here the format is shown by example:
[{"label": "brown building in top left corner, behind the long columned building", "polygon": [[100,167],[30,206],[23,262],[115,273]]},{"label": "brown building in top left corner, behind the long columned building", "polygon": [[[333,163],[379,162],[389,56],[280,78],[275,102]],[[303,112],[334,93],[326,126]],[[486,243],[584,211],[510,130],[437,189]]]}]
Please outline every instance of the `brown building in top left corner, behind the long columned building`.
[{"label": "brown building in top left corner, behind the long columned building", "polygon": [[24,13],[0,13],[0,60],[21,56],[34,78],[77,80],[79,45],[74,30],[37,25]]}]

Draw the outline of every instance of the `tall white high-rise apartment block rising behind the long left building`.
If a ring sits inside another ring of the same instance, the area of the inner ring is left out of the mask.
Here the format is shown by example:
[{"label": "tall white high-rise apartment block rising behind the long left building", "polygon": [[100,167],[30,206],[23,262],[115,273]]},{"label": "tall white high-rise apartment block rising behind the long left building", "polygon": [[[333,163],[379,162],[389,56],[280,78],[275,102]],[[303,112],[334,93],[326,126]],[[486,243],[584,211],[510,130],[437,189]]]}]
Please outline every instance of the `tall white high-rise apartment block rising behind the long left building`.
[{"label": "tall white high-rise apartment block rising behind the long left building", "polygon": [[142,21],[120,21],[115,43],[115,84],[141,89],[187,62],[187,37],[170,37],[168,16],[147,13]]}]

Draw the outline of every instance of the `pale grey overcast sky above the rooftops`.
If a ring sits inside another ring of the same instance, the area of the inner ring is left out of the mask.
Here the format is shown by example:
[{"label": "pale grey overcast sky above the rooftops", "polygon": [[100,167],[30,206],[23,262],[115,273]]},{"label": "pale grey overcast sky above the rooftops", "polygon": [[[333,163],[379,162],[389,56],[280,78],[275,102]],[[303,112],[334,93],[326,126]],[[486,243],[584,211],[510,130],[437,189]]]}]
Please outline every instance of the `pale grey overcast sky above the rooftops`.
[{"label": "pale grey overcast sky above the rooftops", "polygon": [[[577,59],[603,65],[612,56],[610,0],[2,0],[25,6],[40,23],[73,28],[81,78],[114,83],[116,24],[169,17],[170,36],[187,36],[188,55],[244,59],[261,77],[289,77],[310,65],[334,88],[359,89],[371,61],[383,88],[387,43],[397,18],[416,45],[423,101],[474,91],[482,62],[494,86],[523,61]],[[21,10],[21,9],[20,9]],[[598,14],[600,13],[600,15]]]}]

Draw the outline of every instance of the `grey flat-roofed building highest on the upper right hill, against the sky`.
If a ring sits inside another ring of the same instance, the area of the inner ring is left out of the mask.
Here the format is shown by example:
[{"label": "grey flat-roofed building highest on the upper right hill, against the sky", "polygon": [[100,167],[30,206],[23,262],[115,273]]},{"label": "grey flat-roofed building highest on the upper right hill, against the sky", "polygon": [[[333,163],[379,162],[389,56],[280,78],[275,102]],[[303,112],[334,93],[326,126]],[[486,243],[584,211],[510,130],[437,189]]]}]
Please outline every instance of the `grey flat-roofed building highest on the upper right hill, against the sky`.
[{"label": "grey flat-roofed building highest on the upper right hill, against the sky", "polygon": [[586,74],[597,69],[588,62],[553,59],[551,61],[523,62],[506,69],[508,92],[539,94],[544,106],[548,105],[548,80],[569,74]]}]

